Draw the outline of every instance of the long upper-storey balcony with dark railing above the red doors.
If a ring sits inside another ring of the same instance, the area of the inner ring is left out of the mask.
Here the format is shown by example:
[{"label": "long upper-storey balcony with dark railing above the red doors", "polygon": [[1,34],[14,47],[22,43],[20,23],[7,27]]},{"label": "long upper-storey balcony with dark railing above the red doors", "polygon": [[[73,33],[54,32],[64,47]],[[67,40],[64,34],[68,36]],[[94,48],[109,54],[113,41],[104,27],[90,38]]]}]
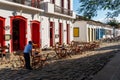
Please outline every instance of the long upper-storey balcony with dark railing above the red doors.
[{"label": "long upper-storey balcony with dark railing above the red doors", "polygon": [[65,9],[55,4],[52,4],[49,2],[43,2],[40,0],[36,0],[34,3],[32,2],[32,0],[5,0],[5,1],[14,2],[14,3],[42,9],[46,13],[52,13],[52,14],[59,13],[60,15],[64,14],[70,17],[73,16],[73,11],[69,9]]}]

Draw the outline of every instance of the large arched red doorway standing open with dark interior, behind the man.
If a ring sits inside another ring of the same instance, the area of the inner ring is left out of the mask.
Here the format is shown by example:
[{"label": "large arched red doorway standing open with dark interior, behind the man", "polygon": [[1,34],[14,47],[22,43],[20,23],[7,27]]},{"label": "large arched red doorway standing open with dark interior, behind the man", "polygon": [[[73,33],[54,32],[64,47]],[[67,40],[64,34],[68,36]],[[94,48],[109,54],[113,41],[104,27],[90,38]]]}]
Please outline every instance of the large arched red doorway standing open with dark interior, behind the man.
[{"label": "large arched red doorway standing open with dark interior, behind the man", "polygon": [[22,16],[11,16],[11,52],[24,50],[27,43],[27,19]]}]

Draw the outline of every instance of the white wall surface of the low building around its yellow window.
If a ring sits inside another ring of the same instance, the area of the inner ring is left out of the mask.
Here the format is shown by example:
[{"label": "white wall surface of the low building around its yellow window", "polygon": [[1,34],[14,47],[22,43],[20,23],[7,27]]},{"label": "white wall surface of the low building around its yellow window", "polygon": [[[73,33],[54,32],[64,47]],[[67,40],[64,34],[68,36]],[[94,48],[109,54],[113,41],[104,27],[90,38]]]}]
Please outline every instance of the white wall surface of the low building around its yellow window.
[{"label": "white wall surface of the low building around its yellow window", "polygon": [[[113,33],[113,28],[88,24],[87,21],[75,21],[74,27],[79,27],[79,35],[80,35],[79,37],[74,37],[75,41],[89,42],[88,28],[90,29],[90,41],[94,41],[96,38],[96,32],[94,31],[95,29],[106,29],[106,30],[110,30]],[[93,39],[92,39],[92,29],[93,29]],[[120,32],[118,30],[116,30],[116,32],[118,35],[120,35]],[[107,37],[113,37],[113,34],[104,35],[104,38]]]}]

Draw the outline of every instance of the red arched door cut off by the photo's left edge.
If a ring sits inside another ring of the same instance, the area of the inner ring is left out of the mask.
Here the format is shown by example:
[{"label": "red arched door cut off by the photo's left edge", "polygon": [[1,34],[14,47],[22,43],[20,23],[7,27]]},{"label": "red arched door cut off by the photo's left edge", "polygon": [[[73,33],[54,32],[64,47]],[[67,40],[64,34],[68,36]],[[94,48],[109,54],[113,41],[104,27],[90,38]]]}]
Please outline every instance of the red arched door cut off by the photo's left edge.
[{"label": "red arched door cut off by the photo's left edge", "polygon": [[5,46],[5,39],[4,39],[4,35],[5,35],[5,30],[4,30],[5,18],[0,16],[0,21],[2,22],[2,25],[0,26],[0,42],[2,43],[1,46]]}]

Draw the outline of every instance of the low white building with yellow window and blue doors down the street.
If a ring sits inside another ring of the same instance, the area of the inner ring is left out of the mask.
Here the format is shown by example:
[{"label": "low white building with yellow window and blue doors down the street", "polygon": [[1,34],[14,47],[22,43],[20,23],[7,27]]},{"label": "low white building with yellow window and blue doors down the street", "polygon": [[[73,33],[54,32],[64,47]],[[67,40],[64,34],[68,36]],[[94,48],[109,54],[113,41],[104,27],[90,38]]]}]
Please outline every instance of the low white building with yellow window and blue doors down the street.
[{"label": "low white building with yellow window and blue doors down the street", "polygon": [[74,41],[91,42],[103,38],[120,36],[120,30],[114,29],[100,22],[90,20],[76,20],[74,22]]}]

